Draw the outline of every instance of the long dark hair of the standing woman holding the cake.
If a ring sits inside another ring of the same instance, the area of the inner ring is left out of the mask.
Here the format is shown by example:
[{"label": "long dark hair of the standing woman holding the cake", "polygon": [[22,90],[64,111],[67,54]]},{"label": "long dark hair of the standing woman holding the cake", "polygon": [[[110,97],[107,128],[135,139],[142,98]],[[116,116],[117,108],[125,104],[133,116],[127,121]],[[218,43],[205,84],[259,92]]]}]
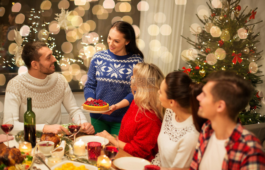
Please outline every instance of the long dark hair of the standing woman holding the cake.
[{"label": "long dark hair of the standing woman holding the cake", "polygon": [[144,59],[144,54],[138,49],[135,42],[135,33],[134,30],[128,22],[117,21],[111,28],[116,29],[119,33],[123,34],[124,38],[128,41],[128,45],[125,45],[127,53],[138,54]]}]

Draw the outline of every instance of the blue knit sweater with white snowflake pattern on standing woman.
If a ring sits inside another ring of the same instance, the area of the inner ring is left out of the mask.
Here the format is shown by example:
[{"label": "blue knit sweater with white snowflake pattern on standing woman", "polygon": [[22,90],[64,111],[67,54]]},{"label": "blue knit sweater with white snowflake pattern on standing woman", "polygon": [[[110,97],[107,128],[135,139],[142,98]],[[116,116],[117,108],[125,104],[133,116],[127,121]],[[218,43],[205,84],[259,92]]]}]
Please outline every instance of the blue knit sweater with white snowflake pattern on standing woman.
[{"label": "blue knit sweater with white snowflake pattern on standing woman", "polygon": [[[130,78],[133,67],[139,62],[143,62],[143,59],[136,54],[118,56],[109,50],[95,53],[91,59],[88,79],[84,86],[85,99],[88,97],[101,99],[110,106],[123,99],[131,103],[133,95],[130,88]],[[111,115],[90,113],[90,116],[109,122],[121,122],[128,107],[118,109]]]}]

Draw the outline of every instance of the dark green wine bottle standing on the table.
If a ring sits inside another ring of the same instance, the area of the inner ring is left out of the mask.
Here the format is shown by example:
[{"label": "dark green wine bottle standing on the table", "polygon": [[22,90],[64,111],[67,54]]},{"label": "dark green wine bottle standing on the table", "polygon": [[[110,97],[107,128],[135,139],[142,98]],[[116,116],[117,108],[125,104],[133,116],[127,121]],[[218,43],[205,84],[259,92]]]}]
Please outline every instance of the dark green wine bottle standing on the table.
[{"label": "dark green wine bottle standing on the table", "polygon": [[36,145],[36,121],[35,113],[31,110],[31,97],[27,98],[28,109],[24,113],[24,139],[31,143],[33,147]]}]

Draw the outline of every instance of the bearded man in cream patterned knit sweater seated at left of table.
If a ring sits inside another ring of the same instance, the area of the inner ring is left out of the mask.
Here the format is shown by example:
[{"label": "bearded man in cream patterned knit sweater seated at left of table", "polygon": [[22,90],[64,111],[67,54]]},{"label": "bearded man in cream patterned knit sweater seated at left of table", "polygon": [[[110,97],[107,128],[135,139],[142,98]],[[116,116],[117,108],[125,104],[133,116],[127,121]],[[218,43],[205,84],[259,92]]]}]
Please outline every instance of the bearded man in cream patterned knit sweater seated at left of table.
[{"label": "bearded man in cream patterned knit sweater seated at left of table", "polygon": [[[54,133],[64,131],[69,134],[60,125],[63,104],[71,118],[80,114],[81,128],[85,133],[93,134],[94,127],[88,123],[76,104],[68,82],[63,75],[55,73],[54,62],[57,60],[52,55],[52,50],[43,42],[28,42],[23,47],[22,59],[28,71],[12,78],[6,86],[3,121],[13,114],[14,128],[10,134],[15,135],[24,128],[23,115],[27,111],[27,97],[32,99],[36,130]],[[47,122],[52,125],[47,125]]]}]

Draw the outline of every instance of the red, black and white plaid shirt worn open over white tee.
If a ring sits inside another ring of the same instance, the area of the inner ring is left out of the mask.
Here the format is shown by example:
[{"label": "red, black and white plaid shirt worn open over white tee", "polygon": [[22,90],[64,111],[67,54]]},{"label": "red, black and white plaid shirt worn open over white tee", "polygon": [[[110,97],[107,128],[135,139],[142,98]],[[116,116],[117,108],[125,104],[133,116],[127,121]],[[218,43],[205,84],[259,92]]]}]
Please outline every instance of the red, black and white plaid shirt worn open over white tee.
[{"label": "red, black and white plaid shirt worn open over white tee", "polygon": [[[210,136],[214,130],[207,121],[199,136],[190,170],[198,170]],[[251,132],[236,125],[232,135],[225,143],[225,154],[222,170],[265,170],[265,155],[260,141]]]}]

